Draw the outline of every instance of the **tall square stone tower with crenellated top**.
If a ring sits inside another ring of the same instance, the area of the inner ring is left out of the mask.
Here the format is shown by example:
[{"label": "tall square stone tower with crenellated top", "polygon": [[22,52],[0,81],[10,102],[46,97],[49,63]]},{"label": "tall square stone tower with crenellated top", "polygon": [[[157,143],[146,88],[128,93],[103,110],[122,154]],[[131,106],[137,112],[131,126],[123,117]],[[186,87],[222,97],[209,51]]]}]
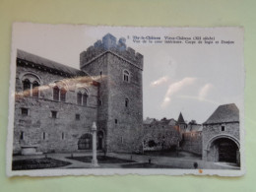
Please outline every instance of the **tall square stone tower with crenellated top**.
[{"label": "tall square stone tower with crenellated top", "polygon": [[107,33],[80,54],[80,68],[99,82],[98,148],[138,152],[143,129],[143,55],[126,47],[125,38]]}]

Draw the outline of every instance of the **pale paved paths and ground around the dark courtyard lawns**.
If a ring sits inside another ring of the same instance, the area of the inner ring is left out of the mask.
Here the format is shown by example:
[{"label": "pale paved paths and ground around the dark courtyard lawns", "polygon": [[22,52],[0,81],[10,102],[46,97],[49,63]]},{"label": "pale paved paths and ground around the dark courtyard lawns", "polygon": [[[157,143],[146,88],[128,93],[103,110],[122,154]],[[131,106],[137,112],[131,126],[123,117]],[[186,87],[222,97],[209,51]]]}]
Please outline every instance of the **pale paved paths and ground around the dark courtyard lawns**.
[{"label": "pale paved paths and ground around the dark courtyard lawns", "polygon": [[[102,153],[98,153],[98,156],[103,156]],[[182,156],[181,156],[182,155]],[[70,160],[67,157],[83,157],[83,156],[92,156],[91,153],[82,153],[82,154],[47,154],[47,155],[36,155],[36,156],[15,156],[13,160],[25,160],[25,159],[35,159],[35,158],[52,158],[55,160],[64,160],[71,162],[70,165],[62,166],[61,168],[92,168],[90,162],[82,162],[79,160]],[[124,162],[124,163],[100,163],[96,168],[122,168],[122,165],[133,164],[133,163],[151,163],[166,165],[173,168],[197,168],[204,169],[237,169],[239,167],[234,166],[233,164],[224,163],[224,162],[209,162],[201,160],[200,157],[194,156],[190,153],[180,152],[179,157],[168,157],[166,156],[157,156],[153,155],[131,155],[131,154],[116,154],[116,153],[107,153],[108,157],[123,159],[123,160],[135,160],[136,162]]]}]

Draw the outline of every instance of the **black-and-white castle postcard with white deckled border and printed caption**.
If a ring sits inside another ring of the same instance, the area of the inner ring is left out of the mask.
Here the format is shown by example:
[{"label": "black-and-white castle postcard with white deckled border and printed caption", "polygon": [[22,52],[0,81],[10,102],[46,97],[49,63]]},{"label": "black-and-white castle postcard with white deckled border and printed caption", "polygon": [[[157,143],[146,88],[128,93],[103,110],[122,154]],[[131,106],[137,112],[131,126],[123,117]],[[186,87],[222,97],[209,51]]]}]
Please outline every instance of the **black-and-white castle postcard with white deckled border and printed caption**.
[{"label": "black-and-white castle postcard with white deckled border and printed caption", "polygon": [[243,29],[13,25],[7,174],[244,173]]}]

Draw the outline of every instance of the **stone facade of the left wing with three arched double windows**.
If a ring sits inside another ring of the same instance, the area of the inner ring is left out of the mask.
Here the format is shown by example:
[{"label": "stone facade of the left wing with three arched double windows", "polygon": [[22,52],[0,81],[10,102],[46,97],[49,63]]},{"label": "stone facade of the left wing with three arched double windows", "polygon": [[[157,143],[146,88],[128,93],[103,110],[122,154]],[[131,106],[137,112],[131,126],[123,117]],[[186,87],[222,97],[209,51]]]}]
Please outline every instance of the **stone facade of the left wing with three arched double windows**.
[{"label": "stone facade of the left wing with three arched double windows", "polygon": [[[21,78],[27,72],[37,75],[41,80],[38,97],[24,96],[26,94],[23,93]],[[55,81],[69,84],[66,101],[53,100],[52,83]],[[89,91],[87,106],[77,104],[78,82]],[[20,153],[22,146],[28,145],[35,145],[38,151],[44,153],[78,151],[79,138],[89,133],[93,122],[96,121],[97,104],[97,87],[92,81],[82,82],[84,83],[81,83],[81,78],[65,79],[53,71],[49,73],[43,69],[17,66],[13,146],[15,154]],[[23,107],[29,109],[28,115],[22,114]],[[57,118],[51,117],[52,110],[57,111]],[[79,120],[76,120],[76,114],[80,115]]]}]

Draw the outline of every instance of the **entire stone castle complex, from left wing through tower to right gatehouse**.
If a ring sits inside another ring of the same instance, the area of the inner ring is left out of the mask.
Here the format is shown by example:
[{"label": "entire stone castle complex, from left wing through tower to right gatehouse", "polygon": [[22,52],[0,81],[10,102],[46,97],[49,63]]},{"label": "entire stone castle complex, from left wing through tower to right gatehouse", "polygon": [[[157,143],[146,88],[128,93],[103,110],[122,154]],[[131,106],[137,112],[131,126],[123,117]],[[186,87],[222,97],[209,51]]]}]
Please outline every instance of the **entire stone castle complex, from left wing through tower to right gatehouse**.
[{"label": "entire stone castle complex, from left wing through tower to right gatehouse", "polygon": [[[239,111],[221,105],[203,124],[143,121],[143,55],[107,33],[80,54],[80,70],[17,50],[13,154],[181,149],[239,163]],[[230,152],[230,153],[228,153]]]}]

